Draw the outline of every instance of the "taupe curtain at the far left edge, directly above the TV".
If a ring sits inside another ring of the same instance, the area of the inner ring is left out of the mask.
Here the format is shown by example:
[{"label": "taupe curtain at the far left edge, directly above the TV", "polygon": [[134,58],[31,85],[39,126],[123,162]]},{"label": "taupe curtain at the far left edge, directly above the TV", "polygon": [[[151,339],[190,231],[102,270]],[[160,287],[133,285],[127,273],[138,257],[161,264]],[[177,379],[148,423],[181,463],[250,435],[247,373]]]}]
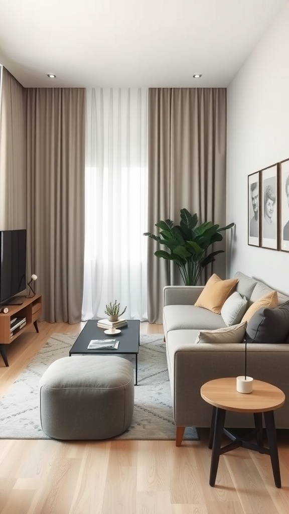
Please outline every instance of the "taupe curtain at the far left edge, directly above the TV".
[{"label": "taupe curtain at the far left edge, directly above the TV", "polygon": [[26,227],[25,89],[2,67],[0,101],[0,229]]}]

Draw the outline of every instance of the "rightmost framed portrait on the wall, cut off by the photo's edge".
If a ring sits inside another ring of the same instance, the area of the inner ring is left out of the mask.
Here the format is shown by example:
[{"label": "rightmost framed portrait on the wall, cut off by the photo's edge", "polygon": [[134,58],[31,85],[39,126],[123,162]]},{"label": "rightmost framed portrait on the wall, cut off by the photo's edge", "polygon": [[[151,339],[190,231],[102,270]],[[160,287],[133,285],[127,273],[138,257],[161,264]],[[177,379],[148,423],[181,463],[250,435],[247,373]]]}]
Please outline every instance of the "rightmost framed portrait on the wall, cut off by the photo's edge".
[{"label": "rightmost framed portrait on the wall, cut off by the photo's edge", "polygon": [[289,159],[280,162],[280,250],[289,252]]}]

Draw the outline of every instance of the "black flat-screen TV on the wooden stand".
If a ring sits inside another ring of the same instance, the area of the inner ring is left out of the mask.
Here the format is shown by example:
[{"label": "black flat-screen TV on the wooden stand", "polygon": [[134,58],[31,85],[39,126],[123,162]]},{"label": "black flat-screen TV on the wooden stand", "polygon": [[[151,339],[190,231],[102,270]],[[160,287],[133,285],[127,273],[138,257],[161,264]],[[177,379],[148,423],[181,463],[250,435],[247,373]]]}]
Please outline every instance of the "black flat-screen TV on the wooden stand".
[{"label": "black flat-screen TV on the wooden stand", "polygon": [[[26,289],[26,230],[0,231],[0,304],[23,302],[15,297]],[[14,297],[14,298],[13,298]]]}]

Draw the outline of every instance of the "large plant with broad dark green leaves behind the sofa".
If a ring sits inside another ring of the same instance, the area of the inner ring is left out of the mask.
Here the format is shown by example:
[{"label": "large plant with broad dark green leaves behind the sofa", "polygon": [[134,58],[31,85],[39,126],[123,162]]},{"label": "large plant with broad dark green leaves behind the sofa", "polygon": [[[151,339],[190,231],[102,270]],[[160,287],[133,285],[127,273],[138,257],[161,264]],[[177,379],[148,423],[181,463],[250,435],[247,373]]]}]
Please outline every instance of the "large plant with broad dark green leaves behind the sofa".
[{"label": "large plant with broad dark green leaves behind the sofa", "polygon": [[221,232],[234,226],[234,223],[226,227],[214,225],[212,222],[205,222],[199,226],[197,224],[197,214],[191,214],[187,209],[180,209],[179,225],[175,225],[171,219],[166,219],[155,224],[159,235],[151,232],[143,234],[169,249],[169,251],[157,250],[155,255],[174,261],[187,286],[196,285],[202,269],[212,263],[218,253],[224,252],[224,250],[216,250],[208,253],[208,248],[213,243],[223,240]]}]

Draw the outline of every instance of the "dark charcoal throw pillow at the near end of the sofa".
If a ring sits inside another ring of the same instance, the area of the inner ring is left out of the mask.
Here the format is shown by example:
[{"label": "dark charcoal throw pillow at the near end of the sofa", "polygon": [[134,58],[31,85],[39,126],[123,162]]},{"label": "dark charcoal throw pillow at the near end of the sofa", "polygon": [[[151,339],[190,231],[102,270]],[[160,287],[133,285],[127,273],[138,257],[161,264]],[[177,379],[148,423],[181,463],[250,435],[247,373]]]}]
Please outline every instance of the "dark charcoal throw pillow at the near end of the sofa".
[{"label": "dark charcoal throw pillow at the near end of the sofa", "polygon": [[249,319],[247,341],[253,343],[283,343],[289,334],[289,304],[263,307]]}]

